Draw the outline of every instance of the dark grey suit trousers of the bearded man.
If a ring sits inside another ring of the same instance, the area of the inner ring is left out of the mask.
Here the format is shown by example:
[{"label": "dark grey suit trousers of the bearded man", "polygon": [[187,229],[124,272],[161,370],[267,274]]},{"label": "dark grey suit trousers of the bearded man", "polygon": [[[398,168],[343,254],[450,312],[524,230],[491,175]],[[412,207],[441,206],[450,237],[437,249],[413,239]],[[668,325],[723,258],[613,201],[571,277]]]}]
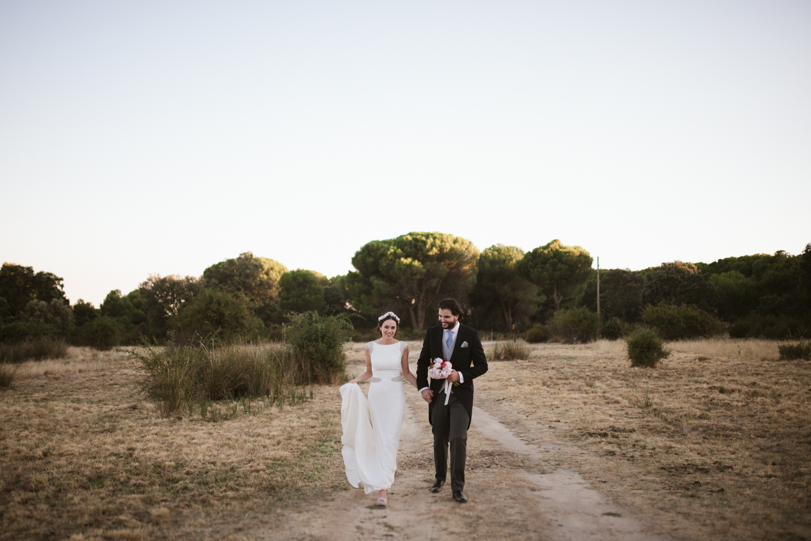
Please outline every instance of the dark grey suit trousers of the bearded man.
[{"label": "dark grey suit trousers of the bearded man", "polygon": [[465,406],[451,393],[445,406],[445,394],[435,394],[431,411],[431,426],[434,432],[434,463],[436,479],[448,477],[448,444],[451,450],[451,490],[465,488],[465,461],[467,458],[467,427],[470,424]]}]

